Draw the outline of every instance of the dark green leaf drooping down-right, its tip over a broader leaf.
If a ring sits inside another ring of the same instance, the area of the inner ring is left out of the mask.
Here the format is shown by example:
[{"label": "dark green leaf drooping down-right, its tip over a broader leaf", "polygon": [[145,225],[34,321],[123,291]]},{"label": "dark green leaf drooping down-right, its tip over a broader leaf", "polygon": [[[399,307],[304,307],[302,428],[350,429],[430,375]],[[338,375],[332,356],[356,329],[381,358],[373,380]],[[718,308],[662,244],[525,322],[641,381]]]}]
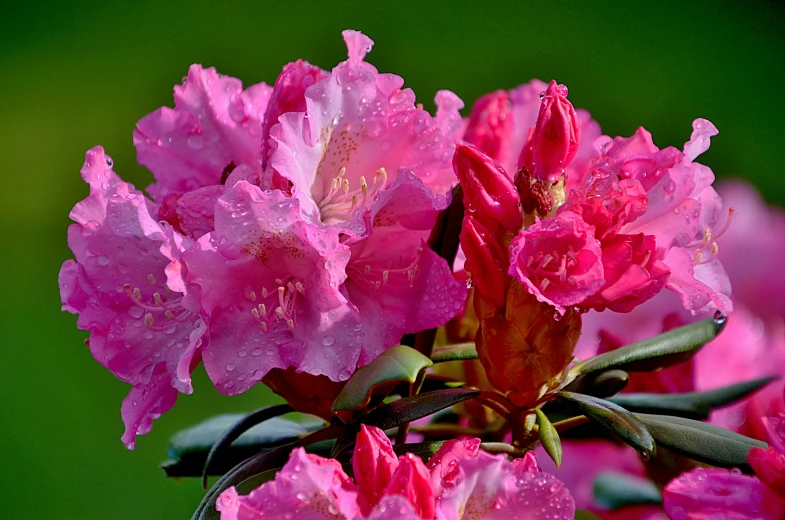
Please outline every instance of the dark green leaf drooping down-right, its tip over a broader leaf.
[{"label": "dark green leaf drooping down-right, its tip over a broader leaf", "polygon": [[644,458],[649,458],[655,453],[656,446],[649,431],[621,406],[604,399],[572,392],[559,392],[557,395],[573,404],[586,417],[637,449]]}]

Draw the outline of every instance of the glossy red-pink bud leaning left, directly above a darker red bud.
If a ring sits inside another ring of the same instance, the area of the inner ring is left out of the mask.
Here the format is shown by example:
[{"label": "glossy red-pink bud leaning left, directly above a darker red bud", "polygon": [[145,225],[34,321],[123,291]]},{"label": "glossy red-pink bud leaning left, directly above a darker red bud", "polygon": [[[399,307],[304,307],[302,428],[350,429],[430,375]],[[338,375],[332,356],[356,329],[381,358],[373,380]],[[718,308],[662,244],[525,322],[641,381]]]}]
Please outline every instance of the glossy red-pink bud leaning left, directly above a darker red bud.
[{"label": "glossy red-pink bud leaning left, directly above a darker red bud", "polygon": [[463,186],[466,210],[490,229],[517,233],[523,226],[521,201],[504,169],[474,146],[458,144],[452,159]]}]

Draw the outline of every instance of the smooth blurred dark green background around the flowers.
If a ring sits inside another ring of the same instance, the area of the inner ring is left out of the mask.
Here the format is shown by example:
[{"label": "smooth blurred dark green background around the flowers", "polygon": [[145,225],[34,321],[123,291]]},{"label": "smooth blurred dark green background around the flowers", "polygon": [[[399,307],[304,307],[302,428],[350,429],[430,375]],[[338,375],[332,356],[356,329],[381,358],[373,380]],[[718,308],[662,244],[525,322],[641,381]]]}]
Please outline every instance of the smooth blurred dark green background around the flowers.
[{"label": "smooth blurred dark green background around the flowers", "polygon": [[102,144],[118,173],[147,185],[131,132],[172,104],[189,64],[272,83],[300,57],[331,68],[345,56],[340,31],[355,28],[376,41],[369,61],[403,76],[426,107],[438,89],[471,105],[540,77],[566,83],[611,135],[643,125],[660,146],[680,147],[692,120],[709,118],[720,135],[702,160],[782,204],[783,8],[740,4],[3,2],[0,516],[187,518],[201,490],[157,468],[169,436],[271,399],[262,388],[222,397],[200,372],[194,395],[129,452],[119,440],[128,387],[59,310],[68,212],[87,193],[85,150]]}]

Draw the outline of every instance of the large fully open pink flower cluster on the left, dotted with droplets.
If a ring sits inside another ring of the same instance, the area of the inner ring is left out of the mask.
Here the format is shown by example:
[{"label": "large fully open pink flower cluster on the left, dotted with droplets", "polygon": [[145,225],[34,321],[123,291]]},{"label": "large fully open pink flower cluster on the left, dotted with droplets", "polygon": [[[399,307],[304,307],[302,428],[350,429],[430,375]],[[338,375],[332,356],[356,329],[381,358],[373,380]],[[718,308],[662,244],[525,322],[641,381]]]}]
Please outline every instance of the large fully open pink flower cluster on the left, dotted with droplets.
[{"label": "large fully open pink flower cluster on the left, dotted with droplets", "polygon": [[298,61],[273,87],[192,66],[175,108],[134,132],[152,200],[88,152],[61,293],[95,358],[133,385],[127,446],[192,391],[200,360],[228,395],[290,367],[345,381],[462,307],[465,283],[426,240],[463,105],[442,91],[430,116],[363,61],[370,39],[344,39],[331,72]]}]

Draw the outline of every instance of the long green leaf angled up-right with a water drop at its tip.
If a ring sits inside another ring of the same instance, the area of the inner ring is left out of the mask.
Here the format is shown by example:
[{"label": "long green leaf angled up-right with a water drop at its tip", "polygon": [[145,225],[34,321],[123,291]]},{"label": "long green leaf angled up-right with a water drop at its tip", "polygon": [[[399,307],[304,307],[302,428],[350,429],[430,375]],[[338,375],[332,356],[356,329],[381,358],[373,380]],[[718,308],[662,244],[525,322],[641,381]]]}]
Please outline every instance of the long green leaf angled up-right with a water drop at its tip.
[{"label": "long green leaf angled up-right with a water drop at its tip", "polygon": [[575,377],[580,374],[618,368],[627,372],[649,372],[680,363],[692,357],[703,345],[713,340],[727,320],[706,320],[679,327],[665,334],[633,343],[605,354],[587,359],[570,369]]}]

